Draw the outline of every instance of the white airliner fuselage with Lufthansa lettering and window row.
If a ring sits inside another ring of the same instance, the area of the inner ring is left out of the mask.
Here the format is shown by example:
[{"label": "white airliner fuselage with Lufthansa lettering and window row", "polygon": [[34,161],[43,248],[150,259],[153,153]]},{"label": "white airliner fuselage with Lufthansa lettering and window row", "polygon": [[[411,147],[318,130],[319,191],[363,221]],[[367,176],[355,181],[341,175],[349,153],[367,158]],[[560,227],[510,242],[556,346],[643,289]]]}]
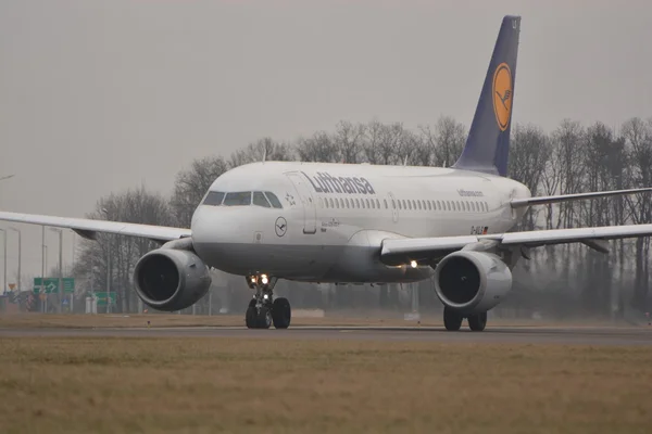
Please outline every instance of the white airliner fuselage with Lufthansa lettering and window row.
[{"label": "white airliner fuselage with Lufthansa lettering and window row", "polygon": [[208,265],[242,276],[358,283],[431,275],[430,266],[383,264],[383,240],[506,232],[526,210],[510,200],[530,196],[519,182],[474,171],[294,162],[237,167],[210,192],[272,192],[283,208],[202,201],[192,243]]}]

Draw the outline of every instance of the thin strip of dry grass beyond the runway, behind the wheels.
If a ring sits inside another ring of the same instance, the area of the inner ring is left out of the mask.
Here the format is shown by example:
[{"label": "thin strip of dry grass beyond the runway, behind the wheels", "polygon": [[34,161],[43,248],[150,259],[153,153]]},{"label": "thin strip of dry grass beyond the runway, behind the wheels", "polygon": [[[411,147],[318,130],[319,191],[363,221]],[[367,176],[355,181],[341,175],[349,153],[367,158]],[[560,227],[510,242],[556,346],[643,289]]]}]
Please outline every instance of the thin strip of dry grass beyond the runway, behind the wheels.
[{"label": "thin strip of dry grass beyond the runway, behind the wheels", "polygon": [[[0,315],[0,329],[9,328],[133,328],[133,327],[243,327],[243,315],[221,316],[192,316],[192,315],[41,315],[18,314]],[[563,322],[535,321],[528,319],[497,319],[490,318],[491,327],[522,326],[522,327],[551,327],[551,326],[625,326],[614,324],[611,321],[594,319],[575,319]],[[402,315],[391,312],[346,312],[343,315],[328,315],[324,318],[292,318],[292,326],[367,326],[367,327],[443,327],[439,315],[423,316],[421,323],[405,321]]]}]

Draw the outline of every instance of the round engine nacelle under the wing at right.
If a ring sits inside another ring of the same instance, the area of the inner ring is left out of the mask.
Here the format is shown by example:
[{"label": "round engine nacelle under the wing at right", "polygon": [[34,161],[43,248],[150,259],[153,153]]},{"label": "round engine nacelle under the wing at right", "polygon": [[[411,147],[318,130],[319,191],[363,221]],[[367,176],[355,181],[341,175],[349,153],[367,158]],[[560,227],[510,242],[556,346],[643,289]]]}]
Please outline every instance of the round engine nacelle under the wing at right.
[{"label": "round engine nacelle under the wing at right", "polygon": [[493,308],[511,289],[512,271],[492,253],[451,253],[435,269],[437,296],[446,306],[463,314]]}]

